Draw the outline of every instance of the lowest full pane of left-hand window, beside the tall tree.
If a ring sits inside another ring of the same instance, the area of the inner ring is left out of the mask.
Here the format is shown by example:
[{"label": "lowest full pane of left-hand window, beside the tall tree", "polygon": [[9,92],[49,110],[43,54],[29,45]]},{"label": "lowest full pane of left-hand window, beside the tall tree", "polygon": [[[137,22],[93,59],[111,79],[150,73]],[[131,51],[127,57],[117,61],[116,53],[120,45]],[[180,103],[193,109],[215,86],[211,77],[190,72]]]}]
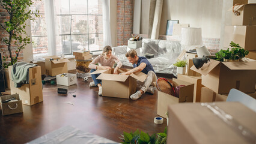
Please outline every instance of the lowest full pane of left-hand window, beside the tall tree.
[{"label": "lowest full pane of left-hand window, beside the tall tree", "polygon": [[47,37],[32,37],[32,46],[34,58],[37,56],[48,55],[48,38]]}]

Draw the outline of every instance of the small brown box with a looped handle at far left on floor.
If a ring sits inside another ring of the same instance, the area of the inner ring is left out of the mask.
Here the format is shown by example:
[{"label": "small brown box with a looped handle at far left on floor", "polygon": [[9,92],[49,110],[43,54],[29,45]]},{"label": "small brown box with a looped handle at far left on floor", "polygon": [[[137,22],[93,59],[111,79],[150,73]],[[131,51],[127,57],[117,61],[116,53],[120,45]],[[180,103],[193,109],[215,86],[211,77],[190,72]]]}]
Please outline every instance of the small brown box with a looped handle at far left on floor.
[{"label": "small brown box with a looped handle at far left on floor", "polygon": [[[2,101],[15,98],[14,102],[2,103]],[[3,95],[0,97],[0,103],[2,108],[2,115],[11,115],[14,113],[23,113],[22,100],[20,100],[19,94]]]}]

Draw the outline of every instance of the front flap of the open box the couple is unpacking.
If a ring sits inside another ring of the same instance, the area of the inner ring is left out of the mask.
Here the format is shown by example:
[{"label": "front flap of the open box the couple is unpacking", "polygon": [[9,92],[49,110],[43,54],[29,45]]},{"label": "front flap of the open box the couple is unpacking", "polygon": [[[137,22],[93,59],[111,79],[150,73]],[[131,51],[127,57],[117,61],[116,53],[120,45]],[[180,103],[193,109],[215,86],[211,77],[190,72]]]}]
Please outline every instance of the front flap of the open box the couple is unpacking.
[{"label": "front flap of the open box the couple is unpacking", "polygon": [[129,77],[128,75],[102,73],[100,74],[100,76],[97,77],[97,79],[125,82],[128,77]]}]

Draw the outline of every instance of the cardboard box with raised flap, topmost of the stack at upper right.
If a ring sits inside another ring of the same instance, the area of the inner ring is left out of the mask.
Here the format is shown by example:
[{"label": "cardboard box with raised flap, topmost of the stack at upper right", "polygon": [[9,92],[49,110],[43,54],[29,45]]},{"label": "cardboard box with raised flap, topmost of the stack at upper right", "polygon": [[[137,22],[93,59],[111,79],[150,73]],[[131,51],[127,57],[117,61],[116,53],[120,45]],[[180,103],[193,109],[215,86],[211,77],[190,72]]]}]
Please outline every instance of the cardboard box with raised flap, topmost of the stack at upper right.
[{"label": "cardboard box with raised flap, topmost of the stack at upper right", "polygon": [[[229,11],[233,11],[233,7]],[[232,25],[256,25],[256,4],[236,5],[234,11],[238,11],[240,14],[236,16],[232,12]]]}]

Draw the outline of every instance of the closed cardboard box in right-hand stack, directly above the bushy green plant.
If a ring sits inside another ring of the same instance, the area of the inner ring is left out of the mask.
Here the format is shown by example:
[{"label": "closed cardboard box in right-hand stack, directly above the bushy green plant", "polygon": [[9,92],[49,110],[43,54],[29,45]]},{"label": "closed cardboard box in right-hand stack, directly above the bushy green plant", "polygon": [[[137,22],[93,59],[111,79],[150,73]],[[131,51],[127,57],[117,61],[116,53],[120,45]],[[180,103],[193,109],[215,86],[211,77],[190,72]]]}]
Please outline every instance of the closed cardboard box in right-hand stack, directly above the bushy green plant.
[{"label": "closed cardboard box in right-hand stack, directly above the bushy green plant", "polygon": [[256,50],[255,34],[256,26],[225,26],[224,47],[234,41],[245,50]]}]

